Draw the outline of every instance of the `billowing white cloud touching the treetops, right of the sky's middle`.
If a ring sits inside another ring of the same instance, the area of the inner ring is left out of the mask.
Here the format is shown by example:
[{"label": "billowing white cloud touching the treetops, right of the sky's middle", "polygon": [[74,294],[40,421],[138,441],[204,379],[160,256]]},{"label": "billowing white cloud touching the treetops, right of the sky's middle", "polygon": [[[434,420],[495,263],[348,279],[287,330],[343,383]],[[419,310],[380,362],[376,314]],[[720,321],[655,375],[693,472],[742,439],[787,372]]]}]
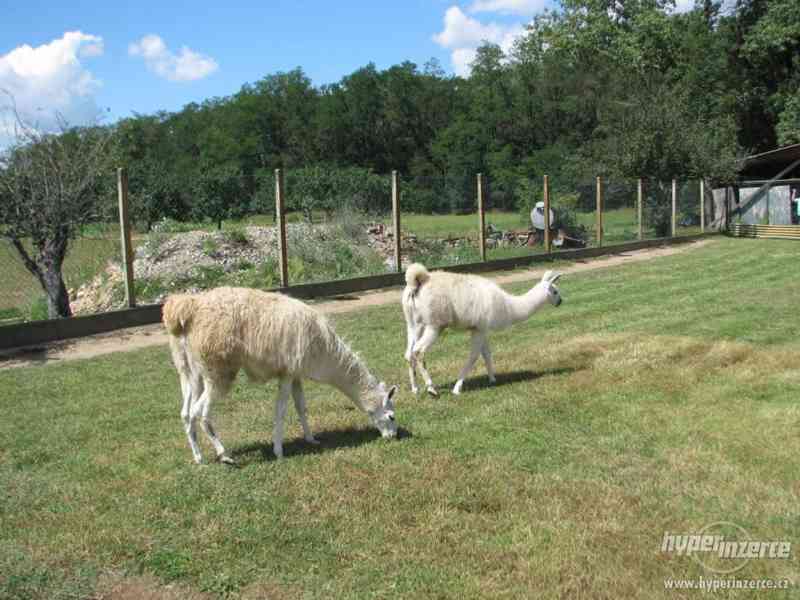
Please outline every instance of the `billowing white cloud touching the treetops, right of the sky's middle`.
[{"label": "billowing white cloud touching the treetops, right of the sky's middle", "polygon": [[503,52],[508,53],[524,31],[521,23],[484,24],[465,15],[458,6],[451,6],[444,15],[444,30],[434,35],[433,41],[451,50],[453,70],[457,75],[466,77],[470,72],[470,63],[475,59],[475,51],[483,42],[497,44]]}]

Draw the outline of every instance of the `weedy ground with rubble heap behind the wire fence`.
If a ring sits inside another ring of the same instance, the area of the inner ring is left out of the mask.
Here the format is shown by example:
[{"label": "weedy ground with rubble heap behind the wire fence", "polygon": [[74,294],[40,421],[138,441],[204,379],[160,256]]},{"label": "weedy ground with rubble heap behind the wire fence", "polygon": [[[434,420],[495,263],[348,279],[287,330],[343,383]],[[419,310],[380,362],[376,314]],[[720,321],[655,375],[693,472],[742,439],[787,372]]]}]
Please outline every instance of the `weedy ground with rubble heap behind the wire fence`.
[{"label": "weedy ground with rubble heap behind the wire fence", "polygon": [[[225,221],[219,230],[163,220],[149,232],[134,232],[127,177],[120,171],[120,223],[87,227],[70,244],[64,277],[73,312],[158,304],[171,292],[218,285],[330,295],[391,285],[394,279],[385,276],[412,261],[433,268],[483,264],[488,270],[493,263],[526,264],[570,250],[705,231],[706,192],[698,180],[564,184],[546,176],[507,181],[393,172],[377,203],[370,192],[368,214],[358,208],[363,201],[344,197],[334,199],[336,210],[288,211],[297,202],[280,169],[274,186],[272,215]],[[38,281],[6,241],[0,241],[0,268],[0,326],[46,319]],[[329,283],[334,281],[351,283],[337,287]]]}]

